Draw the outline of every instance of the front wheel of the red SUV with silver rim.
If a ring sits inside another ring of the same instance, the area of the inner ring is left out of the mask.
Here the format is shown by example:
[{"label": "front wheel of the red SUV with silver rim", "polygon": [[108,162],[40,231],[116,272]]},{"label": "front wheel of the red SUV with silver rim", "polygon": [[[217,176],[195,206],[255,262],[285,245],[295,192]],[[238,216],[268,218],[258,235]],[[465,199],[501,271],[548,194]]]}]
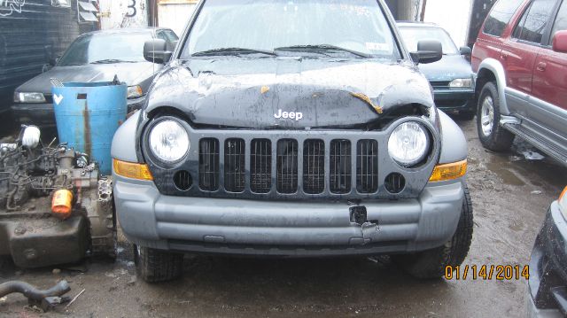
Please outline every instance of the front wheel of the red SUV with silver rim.
[{"label": "front wheel of the red SUV with silver rim", "polygon": [[500,126],[500,120],[498,89],[489,81],[478,98],[477,128],[480,143],[491,151],[506,151],[514,142],[514,135]]}]

